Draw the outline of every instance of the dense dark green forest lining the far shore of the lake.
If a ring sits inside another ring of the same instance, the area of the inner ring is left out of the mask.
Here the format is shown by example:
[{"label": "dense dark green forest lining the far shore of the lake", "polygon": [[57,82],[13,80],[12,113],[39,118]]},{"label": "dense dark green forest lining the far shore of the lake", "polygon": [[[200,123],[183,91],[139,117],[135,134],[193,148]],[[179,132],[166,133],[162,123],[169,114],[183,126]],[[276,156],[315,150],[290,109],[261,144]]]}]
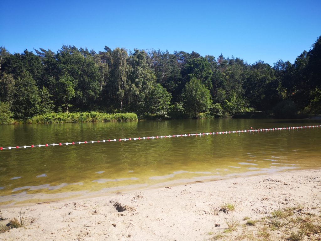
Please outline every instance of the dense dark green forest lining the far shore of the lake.
[{"label": "dense dark green forest lining the far shore of the lake", "polygon": [[139,118],[275,117],[321,112],[321,36],[294,61],[247,64],[222,54],[63,45],[0,48],[0,123],[62,112],[134,112]]}]

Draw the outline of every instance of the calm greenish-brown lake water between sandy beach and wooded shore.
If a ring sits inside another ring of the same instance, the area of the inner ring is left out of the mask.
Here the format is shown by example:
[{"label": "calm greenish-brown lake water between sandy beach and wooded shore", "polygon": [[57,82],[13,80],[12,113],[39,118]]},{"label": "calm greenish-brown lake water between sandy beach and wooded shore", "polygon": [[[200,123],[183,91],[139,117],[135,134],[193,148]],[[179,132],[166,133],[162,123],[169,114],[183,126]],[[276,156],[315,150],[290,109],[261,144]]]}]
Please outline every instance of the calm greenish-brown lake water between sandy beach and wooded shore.
[{"label": "calm greenish-brown lake water between sandy beach and wooded shore", "polygon": [[[0,146],[320,125],[321,120],[173,120],[0,126]],[[321,128],[0,151],[0,204],[321,167]]]}]

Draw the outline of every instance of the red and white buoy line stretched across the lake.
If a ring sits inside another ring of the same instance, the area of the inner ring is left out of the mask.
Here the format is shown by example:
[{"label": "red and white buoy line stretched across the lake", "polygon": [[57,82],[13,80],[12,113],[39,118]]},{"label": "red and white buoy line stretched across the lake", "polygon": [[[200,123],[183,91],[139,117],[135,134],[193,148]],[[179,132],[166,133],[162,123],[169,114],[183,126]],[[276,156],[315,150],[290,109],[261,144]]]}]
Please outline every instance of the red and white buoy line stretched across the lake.
[{"label": "red and white buoy line stretched across the lake", "polygon": [[295,130],[295,129],[307,129],[307,128],[315,128],[321,127],[321,125],[317,126],[296,126],[296,127],[281,127],[281,128],[268,128],[268,129],[251,129],[249,130],[233,130],[233,131],[220,131],[220,132],[206,132],[206,133],[196,133],[196,134],[178,134],[178,135],[168,135],[168,136],[152,136],[152,137],[138,137],[138,138],[124,138],[124,139],[108,139],[108,140],[97,140],[97,141],[77,141],[77,142],[66,142],[66,143],[53,143],[53,144],[45,144],[45,145],[30,145],[30,146],[16,146],[16,147],[0,147],[0,151],[2,150],[11,150],[11,149],[19,149],[19,148],[34,148],[34,147],[49,147],[49,146],[68,146],[68,145],[76,145],[76,144],[87,144],[87,143],[100,143],[100,142],[111,142],[111,141],[131,141],[131,140],[150,140],[150,139],[158,139],[158,138],[172,138],[172,137],[187,137],[187,136],[205,136],[205,135],[221,135],[221,134],[231,134],[231,133],[247,133],[247,132],[264,132],[264,131],[274,131],[274,130]]}]

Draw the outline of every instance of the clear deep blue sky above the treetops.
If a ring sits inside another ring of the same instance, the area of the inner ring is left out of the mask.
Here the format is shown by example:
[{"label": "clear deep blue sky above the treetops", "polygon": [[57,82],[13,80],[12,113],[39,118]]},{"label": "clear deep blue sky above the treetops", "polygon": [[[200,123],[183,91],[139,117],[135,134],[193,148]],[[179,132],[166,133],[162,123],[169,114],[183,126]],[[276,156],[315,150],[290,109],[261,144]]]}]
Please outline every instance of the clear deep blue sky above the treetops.
[{"label": "clear deep blue sky above the treetops", "polygon": [[321,35],[321,1],[1,1],[0,46],[195,51],[273,65]]}]

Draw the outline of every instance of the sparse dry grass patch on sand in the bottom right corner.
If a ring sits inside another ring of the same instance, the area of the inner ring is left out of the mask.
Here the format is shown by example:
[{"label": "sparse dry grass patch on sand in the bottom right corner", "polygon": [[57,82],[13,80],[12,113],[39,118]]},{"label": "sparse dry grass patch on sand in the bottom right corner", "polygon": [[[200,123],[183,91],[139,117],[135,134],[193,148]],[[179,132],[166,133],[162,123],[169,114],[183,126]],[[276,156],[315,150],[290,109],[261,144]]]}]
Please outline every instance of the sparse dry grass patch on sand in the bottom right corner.
[{"label": "sparse dry grass patch on sand in the bottom right corner", "polygon": [[[224,204],[221,209],[229,210],[232,206]],[[234,206],[235,208],[235,206]],[[233,209],[233,208],[232,208]],[[271,211],[261,219],[244,217],[245,224],[239,225],[238,220],[227,221],[228,228],[213,235],[210,240],[233,241],[321,241],[321,209],[313,213],[301,206]],[[235,231],[237,230],[237,231]],[[231,232],[234,232],[231,235]],[[308,237],[306,237],[308,236]]]}]

